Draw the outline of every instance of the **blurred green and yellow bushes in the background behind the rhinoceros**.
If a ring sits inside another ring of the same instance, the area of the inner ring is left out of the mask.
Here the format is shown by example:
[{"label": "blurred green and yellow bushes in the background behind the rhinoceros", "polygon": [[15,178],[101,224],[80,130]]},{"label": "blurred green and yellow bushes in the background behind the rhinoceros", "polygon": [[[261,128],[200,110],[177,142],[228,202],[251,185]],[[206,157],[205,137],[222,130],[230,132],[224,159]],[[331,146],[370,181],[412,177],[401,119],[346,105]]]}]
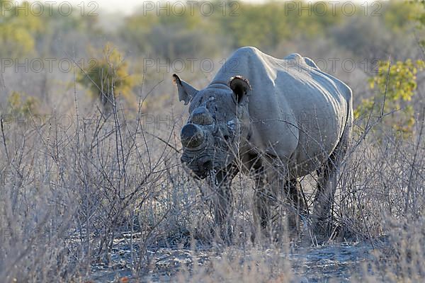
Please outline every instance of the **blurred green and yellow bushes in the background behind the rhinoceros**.
[{"label": "blurred green and yellow bushes in the background behind the rhinoceros", "polygon": [[171,74],[183,73],[201,88],[233,50],[250,45],[278,58],[298,52],[314,59],[353,88],[359,120],[382,114],[387,89],[385,113],[402,113],[392,115],[390,127],[409,134],[424,108],[423,4],[319,3],[213,1],[205,8],[197,2],[182,12],[163,2],[162,10],[141,6],[127,16],[82,14],[77,7],[64,16],[58,8],[39,15],[28,2],[0,0],[0,110],[11,112],[11,101],[30,98],[23,112],[69,112],[74,93],[86,112],[107,108],[112,97],[135,110],[147,93],[145,112],[181,110]]}]

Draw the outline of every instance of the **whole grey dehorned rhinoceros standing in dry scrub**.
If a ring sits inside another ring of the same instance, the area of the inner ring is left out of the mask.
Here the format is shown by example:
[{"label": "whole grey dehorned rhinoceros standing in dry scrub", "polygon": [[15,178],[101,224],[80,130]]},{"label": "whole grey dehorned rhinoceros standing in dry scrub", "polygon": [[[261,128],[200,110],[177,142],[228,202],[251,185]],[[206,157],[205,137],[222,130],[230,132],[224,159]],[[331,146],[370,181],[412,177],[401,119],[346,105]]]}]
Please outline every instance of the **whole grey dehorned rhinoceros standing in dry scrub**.
[{"label": "whole grey dehorned rhinoceros standing in dry scrub", "polygon": [[181,161],[199,178],[215,176],[216,223],[232,216],[230,185],[239,171],[256,180],[254,221],[263,228],[281,192],[304,212],[297,178],[317,171],[313,227],[328,231],[336,170],[353,122],[351,89],[312,59],[276,59],[254,47],[234,52],[200,91],[173,76],[179,99],[190,103]]}]

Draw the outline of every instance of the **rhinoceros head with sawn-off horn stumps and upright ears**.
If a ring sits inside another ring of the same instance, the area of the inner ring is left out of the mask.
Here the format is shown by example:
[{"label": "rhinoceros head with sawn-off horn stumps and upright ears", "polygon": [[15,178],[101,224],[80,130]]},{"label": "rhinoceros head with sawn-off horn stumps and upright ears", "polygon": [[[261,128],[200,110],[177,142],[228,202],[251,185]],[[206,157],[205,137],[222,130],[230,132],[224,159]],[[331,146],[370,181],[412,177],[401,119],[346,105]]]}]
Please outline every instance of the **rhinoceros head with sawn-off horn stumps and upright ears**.
[{"label": "rhinoceros head with sawn-off horn stumps and upright ears", "polygon": [[174,74],[179,99],[189,106],[189,119],[181,129],[183,155],[199,178],[227,168],[234,161],[242,138],[248,134],[249,82],[235,76],[225,83],[215,83],[196,90]]}]

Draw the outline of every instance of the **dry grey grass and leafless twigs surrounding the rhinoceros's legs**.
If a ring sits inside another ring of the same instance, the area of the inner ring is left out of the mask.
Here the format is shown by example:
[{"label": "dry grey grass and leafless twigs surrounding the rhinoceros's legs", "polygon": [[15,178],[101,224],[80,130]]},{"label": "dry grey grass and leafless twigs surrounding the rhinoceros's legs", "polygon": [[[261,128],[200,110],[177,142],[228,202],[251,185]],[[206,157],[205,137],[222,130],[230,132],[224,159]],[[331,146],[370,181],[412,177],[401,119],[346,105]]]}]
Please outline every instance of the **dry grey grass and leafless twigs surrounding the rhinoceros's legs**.
[{"label": "dry grey grass and leafless twigs surrounding the rhinoceros's legs", "polygon": [[[125,241],[123,265],[134,278],[152,270],[159,248],[195,251],[204,245],[215,256],[210,253],[203,264],[195,258],[191,265],[180,265],[168,279],[302,279],[288,258],[294,243],[251,243],[253,186],[248,178],[234,180],[235,238],[223,246],[213,231],[213,192],[181,168],[174,125],[157,137],[149,134],[140,113],[129,119],[119,103],[108,120],[100,113],[88,119],[75,106],[66,128],[59,117],[3,120],[1,282],[84,282],[94,265],[116,267],[118,239]],[[341,167],[333,241],[374,248],[374,260],[365,262],[363,271],[353,270],[353,281],[419,282],[425,277],[425,152],[418,124],[412,140],[371,129],[355,135]],[[309,199],[314,178],[302,181]],[[297,243],[312,244],[307,235]],[[309,272],[308,267],[301,270]]]}]

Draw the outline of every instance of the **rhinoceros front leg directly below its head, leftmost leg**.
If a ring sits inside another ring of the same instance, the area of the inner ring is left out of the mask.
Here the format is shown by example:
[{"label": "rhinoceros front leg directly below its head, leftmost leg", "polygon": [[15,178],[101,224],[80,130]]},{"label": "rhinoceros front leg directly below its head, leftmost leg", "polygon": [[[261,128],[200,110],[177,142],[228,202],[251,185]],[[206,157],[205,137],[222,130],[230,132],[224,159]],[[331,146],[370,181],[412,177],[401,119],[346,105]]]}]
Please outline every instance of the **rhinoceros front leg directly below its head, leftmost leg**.
[{"label": "rhinoceros front leg directly below its head, leftmost leg", "polygon": [[214,220],[220,229],[220,236],[229,239],[232,236],[233,194],[232,180],[237,170],[229,168],[215,175]]}]

